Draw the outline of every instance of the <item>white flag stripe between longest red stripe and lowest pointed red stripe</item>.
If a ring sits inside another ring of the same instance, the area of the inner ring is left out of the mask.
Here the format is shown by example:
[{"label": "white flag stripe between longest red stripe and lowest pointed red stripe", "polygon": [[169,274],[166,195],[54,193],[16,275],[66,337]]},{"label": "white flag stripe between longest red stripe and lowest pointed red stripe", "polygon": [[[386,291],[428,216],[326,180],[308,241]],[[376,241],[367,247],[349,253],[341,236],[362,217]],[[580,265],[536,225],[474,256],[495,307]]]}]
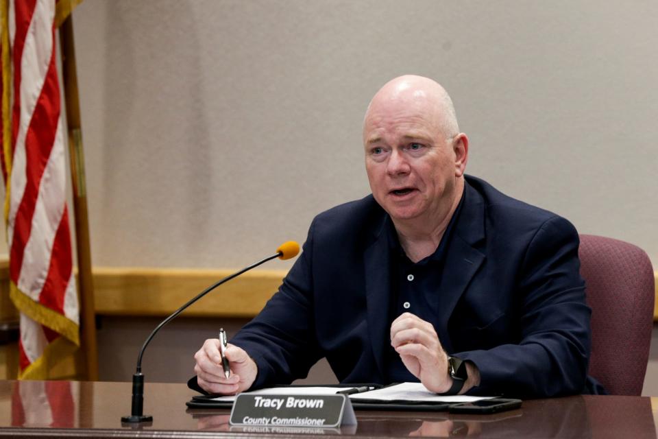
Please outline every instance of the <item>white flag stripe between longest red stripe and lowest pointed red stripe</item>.
[{"label": "white flag stripe between longest red stripe and lowest pointed red stripe", "polygon": [[48,276],[53,242],[64,213],[66,176],[64,176],[64,144],[62,118],[57,123],[55,145],[41,178],[39,193],[32,215],[32,229],[23,250],[23,265],[18,287],[32,300],[39,295]]}]

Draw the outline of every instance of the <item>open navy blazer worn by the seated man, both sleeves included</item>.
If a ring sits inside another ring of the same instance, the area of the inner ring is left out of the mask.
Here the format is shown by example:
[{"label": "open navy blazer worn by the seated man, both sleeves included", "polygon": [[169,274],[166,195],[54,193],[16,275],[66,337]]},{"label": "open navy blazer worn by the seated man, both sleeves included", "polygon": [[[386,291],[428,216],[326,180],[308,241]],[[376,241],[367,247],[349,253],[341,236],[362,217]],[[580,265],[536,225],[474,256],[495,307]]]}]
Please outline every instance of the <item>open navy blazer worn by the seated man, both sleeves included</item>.
[{"label": "open navy blazer worn by the seated man, both sleeves included", "polygon": [[[252,388],[305,377],[321,357],[342,383],[385,383],[386,218],[371,195],[315,217],[279,291],[231,341],[258,365]],[[432,324],[480,370],[470,393],[583,392],[591,311],[574,226],[467,176],[454,227]]]}]

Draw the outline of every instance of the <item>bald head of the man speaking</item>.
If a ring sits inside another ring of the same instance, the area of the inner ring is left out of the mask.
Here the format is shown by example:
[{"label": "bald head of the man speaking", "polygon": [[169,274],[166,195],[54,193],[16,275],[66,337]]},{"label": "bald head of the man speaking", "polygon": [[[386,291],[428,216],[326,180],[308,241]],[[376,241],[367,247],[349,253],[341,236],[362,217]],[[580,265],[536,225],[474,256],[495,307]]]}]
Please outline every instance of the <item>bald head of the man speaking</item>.
[{"label": "bald head of the man speaking", "polygon": [[432,228],[459,204],[468,139],[437,82],[405,75],[385,84],[366,111],[363,145],[372,193],[396,226]]}]

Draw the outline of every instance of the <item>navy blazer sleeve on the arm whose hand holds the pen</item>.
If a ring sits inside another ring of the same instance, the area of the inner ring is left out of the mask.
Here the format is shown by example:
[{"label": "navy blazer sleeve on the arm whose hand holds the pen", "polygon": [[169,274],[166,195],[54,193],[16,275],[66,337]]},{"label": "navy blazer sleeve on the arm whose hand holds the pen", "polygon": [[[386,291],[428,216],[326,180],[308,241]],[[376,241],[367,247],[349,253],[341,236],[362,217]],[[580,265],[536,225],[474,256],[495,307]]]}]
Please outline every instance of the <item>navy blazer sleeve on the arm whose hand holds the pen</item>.
[{"label": "navy blazer sleeve on the arm whose hand holds the pen", "polygon": [[321,357],[313,312],[313,230],[302,254],[262,311],[232,338],[258,366],[252,389],[304,378]]}]

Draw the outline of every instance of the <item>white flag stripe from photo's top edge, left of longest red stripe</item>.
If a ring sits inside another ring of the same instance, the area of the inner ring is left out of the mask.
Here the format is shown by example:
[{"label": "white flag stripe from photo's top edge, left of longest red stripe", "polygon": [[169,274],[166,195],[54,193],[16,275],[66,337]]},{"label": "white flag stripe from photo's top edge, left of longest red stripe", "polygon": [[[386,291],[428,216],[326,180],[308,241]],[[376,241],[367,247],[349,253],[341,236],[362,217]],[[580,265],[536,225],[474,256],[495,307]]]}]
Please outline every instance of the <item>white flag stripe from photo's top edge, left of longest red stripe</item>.
[{"label": "white flag stripe from photo's top edge, left of longest red stripe", "polygon": [[16,213],[23,199],[27,182],[27,176],[25,174],[25,163],[27,160],[25,156],[25,137],[50,64],[53,50],[52,32],[54,16],[55,2],[52,0],[38,0],[32,14],[32,21],[29,23],[29,29],[27,29],[25,45],[23,46],[23,56],[21,57],[21,95],[19,97],[21,99],[21,112],[12,165],[12,197],[7,231],[10,251],[14,239]]}]

